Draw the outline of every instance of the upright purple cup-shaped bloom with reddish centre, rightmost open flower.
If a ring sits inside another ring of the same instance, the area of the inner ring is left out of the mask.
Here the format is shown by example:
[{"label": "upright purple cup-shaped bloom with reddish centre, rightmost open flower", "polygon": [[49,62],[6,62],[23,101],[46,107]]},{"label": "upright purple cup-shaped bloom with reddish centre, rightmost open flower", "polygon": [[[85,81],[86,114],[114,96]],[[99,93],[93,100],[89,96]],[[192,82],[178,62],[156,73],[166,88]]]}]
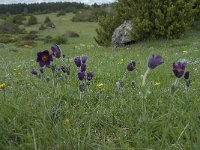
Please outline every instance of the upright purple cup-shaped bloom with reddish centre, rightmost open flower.
[{"label": "upright purple cup-shaped bloom with reddish centre, rightmost open flower", "polygon": [[184,75],[186,63],[178,62],[177,64],[173,63],[173,72],[177,78],[180,78]]}]

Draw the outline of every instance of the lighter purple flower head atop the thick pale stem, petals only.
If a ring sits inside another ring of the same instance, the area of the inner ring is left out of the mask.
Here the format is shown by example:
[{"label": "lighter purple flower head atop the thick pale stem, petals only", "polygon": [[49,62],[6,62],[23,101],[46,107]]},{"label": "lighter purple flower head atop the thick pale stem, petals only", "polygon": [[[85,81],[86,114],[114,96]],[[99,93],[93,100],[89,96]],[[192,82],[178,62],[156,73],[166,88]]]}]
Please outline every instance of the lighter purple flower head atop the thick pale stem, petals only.
[{"label": "lighter purple flower head atop the thick pale stem, petals only", "polygon": [[150,69],[154,69],[162,63],[164,62],[163,62],[163,58],[160,55],[157,55],[157,56],[151,55],[148,60],[148,67]]}]

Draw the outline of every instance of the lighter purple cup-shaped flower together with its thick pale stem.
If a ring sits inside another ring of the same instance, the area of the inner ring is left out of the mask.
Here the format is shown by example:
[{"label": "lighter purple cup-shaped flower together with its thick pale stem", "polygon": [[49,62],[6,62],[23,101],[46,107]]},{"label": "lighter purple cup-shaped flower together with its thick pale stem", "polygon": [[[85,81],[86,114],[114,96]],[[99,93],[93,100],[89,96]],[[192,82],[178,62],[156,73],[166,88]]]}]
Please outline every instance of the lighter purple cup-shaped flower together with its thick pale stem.
[{"label": "lighter purple cup-shaped flower together with its thick pale stem", "polygon": [[162,63],[164,63],[162,56],[157,55],[155,56],[154,54],[151,55],[148,59],[148,68],[143,76],[143,80],[142,80],[142,86],[145,86],[146,84],[146,78],[147,75],[149,73],[150,70],[155,69],[156,67],[158,67],[159,65],[161,65]]}]

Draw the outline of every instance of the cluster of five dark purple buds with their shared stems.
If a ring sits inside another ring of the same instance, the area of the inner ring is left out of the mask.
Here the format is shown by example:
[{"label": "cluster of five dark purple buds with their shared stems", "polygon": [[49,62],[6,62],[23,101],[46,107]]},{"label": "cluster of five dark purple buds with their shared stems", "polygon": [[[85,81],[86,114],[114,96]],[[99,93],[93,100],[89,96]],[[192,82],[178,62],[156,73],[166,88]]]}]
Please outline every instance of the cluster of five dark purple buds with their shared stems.
[{"label": "cluster of five dark purple buds with their shared stems", "polygon": [[80,69],[77,73],[77,77],[79,79],[79,91],[80,91],[80,99],[82,99],[81,93],[86,91],[87,87],[90,85],[90,81],[92,80],[94,73],[86,72],[87,70],[87,55],[77,56],[74,58],[75,65]]}]

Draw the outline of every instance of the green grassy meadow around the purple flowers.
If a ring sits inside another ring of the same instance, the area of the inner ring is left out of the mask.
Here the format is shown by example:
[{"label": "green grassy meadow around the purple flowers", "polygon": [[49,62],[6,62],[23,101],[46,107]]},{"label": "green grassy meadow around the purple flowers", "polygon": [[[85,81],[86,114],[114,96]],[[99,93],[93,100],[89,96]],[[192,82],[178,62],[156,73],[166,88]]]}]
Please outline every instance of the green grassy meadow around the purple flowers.
[{"label": "green grassy meadow around the purple flowers", "polygon": [[[39,22],[45,16],[50,17],[56,29],[41,31],[40,36],[57,36],[66,31],[80,34],[80,38],[60,45],[63,54],[71,58],[71,81],[61,81],[58,94],[54,94],[52,81],[47,83],[30,73],[32,67],[38,67],[37,52],[50,50],[51,44],[37,42],[31,49],[13,44],[1,48],[0,83],[7,87],[5,97],[0,91],[0,149],[200,148],[199,63],[187,65],[191,74],[188,93],[183,79],[175,95],[169,92],[176,79],[172,63],[180,58],[200,61],[200,31],[192,30],[177,40],[140,42],[113,51],[95,44],[96,23],[73,23],[72,14],[58,18],[56,14],[38,15]],[[88,71],[95,76],[90,90],[80,100],[73,58],[82,54],[88,55]],[[149,73],[151,94],[145,99],[141,93],[147,87],[141,87],[141,75],[147,69],[150,54],[162,55],[164,64]],[[122,64],[118,64],[121,59]],[[127,74],[124,89],[117,91],[115,84],[132,59],[136,70]],[[47,74],[51,77],[49,71]],[[155,82],[160,85],[155,86]],[[99,83],[104,86],[98,87]],[[53,108],[59,112],[57,119],[51,117]]]}]

